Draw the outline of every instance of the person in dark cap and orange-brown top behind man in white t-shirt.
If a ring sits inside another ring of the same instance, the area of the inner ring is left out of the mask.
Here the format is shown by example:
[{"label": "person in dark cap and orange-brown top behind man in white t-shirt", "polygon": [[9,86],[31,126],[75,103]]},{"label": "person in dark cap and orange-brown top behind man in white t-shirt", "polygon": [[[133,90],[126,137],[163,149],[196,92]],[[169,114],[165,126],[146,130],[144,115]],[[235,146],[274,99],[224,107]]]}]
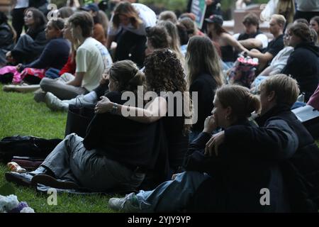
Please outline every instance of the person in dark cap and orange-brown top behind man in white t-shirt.
[{"label": "person in dark cap and orange-brown top behind man in white t-shirt", "polygon": [[103,45],[106,45],[106,33],[99,21],[99,6],[94,3],[87,4],[81,8],[84,11],[87,11],[91,14],[94,21],[94,28],[93,28],[93,38],[98,40]]}]

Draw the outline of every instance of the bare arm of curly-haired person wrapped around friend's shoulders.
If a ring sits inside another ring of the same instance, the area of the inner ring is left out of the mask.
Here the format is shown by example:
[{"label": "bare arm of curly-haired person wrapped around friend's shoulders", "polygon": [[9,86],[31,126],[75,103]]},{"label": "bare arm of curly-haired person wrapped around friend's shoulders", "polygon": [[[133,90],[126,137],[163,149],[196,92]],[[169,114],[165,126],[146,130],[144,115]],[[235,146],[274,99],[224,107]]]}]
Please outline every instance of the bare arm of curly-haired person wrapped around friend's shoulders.
[{"label": "bare arm of curly-haired person wrapped around friend's shoulders", "polygon": [[133,121],[140,123],[152,123],[167,113],[167,101],[163,97],[156,97],[153,101],[147,104],[145,109],[133,106],[123,106],[114,104],[105,96],[101,96],[101,101],[98,101],[95,107],[96,114],[111,112],[113,106],[118,106],[115,114],[124,116]]}]

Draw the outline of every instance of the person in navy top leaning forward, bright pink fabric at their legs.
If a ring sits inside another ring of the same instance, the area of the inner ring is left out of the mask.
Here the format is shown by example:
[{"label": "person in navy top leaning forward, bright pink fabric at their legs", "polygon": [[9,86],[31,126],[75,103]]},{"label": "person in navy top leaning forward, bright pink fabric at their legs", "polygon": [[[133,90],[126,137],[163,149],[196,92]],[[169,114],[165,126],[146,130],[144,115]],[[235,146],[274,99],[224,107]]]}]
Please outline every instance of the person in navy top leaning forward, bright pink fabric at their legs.
[{"label": "person in navy top leaning forward, bright pink fabric at their legs", "polygon": [[[12,82],[18,84],[26,82],[27,84],[39,84],[40,80],[45,77],[46,70],[61,70],[67,62],[70,46],[67,40],[62,38],[62,29],[64,21],[61,18],[50,20],[45,28],[45,37],[49,43],[45,46],[42,54],[33,62],[23,65],[18,64],[16,67],[6,66],[0,69],[0,74],[11,72],[13,74]],[[23,36],[21,36],[23,38]],[[25,84],[21,86],[8,85],[4,86],[4,91],[23,92],[29,90]]]}]

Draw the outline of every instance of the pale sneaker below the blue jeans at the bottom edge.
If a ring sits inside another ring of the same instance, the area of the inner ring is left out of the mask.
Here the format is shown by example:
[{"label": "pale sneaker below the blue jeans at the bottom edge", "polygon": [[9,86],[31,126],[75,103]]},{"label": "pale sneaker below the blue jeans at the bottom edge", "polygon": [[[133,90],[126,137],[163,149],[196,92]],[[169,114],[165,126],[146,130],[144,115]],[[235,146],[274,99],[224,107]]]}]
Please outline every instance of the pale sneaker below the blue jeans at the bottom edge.
[{"label": "pale sneaker below the blue jeans at the bottom edge", "polygon": [[127,194],[123,198],[111,198],[108,200],[108,206],[116,211],[124,211],[124,212],[142,212],[140,207],[138,206],[138,199],[135,196],[134,192]]}]

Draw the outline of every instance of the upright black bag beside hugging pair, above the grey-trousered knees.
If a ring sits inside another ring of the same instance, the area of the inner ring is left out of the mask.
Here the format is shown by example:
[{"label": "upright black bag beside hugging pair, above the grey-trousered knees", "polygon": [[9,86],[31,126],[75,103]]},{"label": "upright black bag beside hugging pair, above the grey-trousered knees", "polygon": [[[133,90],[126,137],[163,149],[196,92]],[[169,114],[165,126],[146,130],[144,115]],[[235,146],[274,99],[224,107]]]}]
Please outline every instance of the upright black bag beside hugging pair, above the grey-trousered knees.
[{"label": "upright black bag beside hugging pair, above the grey-trousered knees", "polygon": [[69,105],[67,112],[67,125],[65,126],[65,136],[77,133],[82,138],[86,135],[86,128],[94,117],[93,106]]}]

